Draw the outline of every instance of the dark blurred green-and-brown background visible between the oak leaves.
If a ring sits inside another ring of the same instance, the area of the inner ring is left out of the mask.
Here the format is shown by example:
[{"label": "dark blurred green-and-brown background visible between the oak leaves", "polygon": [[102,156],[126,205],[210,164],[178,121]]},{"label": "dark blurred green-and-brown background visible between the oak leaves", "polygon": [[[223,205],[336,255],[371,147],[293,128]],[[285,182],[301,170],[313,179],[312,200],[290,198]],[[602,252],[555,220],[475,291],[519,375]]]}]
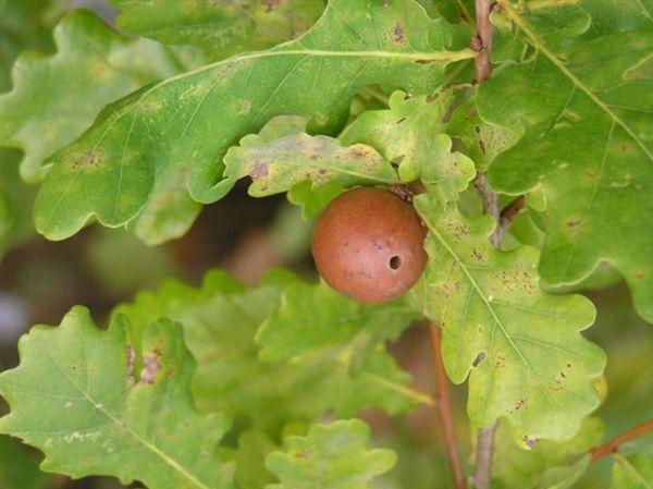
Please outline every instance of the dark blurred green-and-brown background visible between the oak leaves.
[{"label": "dark blurred green-and-brown background visible between the oak leaves", "polygon": [[[174,0],[171,0],[174,1]],[[0,0],[0,90],[11,89],[11,66],[25,49],[52,52],[51,28],[70,9],[94,10],[109,24],[115,11],[103,0],[47,1]],[[103,322],[116,303],[128,301],[136,291],[155,289],[170,277],[198,284],[201,276],[221,267],[245,283],[256,283],[272,267],[287,267],[312,274],[309,256],[311,223],[283,197],[249,198],[244,185],[219,204],[204,209],[183,239],[147,247],[124,230],[89,227],[74,237],[51,243],[36,235],[30,217],[35,188],[19,178],[21,152],[0,149],[0,370],[17,364],[19,337],[34,323],[58,323],[74,304],[88,306]],[[12,220],[2,218],[7,207]],[[653,413],[653,335],[634,314],[623,283],[588,293],[599,309],[596,325],[588,337],[608,354],[605,375],[607,395],[596,415],[605,423],[608,439]],[[416,325],[393,346],[399,363],[409,370],[416,386],[433,392],[429,339],[423,325]],[[464,460],[470,463],[472,433],[466,416],[466,387],[455,387],[457,430]],[[0,414],[7,411],[1,404]],[[432,408],[387,418],[378,412],[362,416],[371,424],[375,443],[397,451],[398,464],[377,486],[381,488],[438,489],[452,487],[441,442],[440,427]],[[498,439],[504,435],[500,428]],[[506,454],[507,453],[507,454]],[[508,445],[497,450],[495,465],[501,473],[503,457],[517,457],[527,467],[528,452]],[[89,477],[73,481],[63,476],[39,473],[41,454],[17,440],[0,436],[0,488],[119,488],[114,479]],[[505,465],[505,464],[504,464]],[[607,487],[609,459],[593,464],[576,485],[578,488]],[[506,475],[510,477],[523,477]],[[135,486],[137,487],[137,486]],[[528,482],[525,479],[525,486]]]}]

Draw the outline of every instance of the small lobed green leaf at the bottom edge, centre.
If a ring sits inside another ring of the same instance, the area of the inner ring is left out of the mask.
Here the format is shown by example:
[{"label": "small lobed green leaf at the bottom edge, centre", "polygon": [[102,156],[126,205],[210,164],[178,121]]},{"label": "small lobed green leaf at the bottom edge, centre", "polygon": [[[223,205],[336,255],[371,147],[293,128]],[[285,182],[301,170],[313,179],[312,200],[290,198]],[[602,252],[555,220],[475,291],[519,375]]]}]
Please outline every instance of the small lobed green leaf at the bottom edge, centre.
[{"label": "small lobed green leaf at the bottom edge, centre", "polygon": [[267,489],[366,489],[396,462],[391,450],[367,448],[369,427],[360,419],[313,425],[306,437],[287,437],[283,452],[266,466],[280,480]]}]

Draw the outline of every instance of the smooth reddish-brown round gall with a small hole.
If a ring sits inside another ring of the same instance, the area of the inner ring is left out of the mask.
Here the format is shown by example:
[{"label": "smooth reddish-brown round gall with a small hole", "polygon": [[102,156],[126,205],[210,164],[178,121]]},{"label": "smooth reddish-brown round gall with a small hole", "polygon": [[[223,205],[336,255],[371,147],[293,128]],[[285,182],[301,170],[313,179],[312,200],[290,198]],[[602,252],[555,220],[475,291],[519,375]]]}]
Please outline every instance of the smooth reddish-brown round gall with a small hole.
[{"label": "smooth reddish-brown round gall with a small hole", "polygon": [[335,198],[312,235],[318,271],[334,290],[365,303],[408,291],[426,264],[427,231],[409,204],[387,191],[362,187]]}]

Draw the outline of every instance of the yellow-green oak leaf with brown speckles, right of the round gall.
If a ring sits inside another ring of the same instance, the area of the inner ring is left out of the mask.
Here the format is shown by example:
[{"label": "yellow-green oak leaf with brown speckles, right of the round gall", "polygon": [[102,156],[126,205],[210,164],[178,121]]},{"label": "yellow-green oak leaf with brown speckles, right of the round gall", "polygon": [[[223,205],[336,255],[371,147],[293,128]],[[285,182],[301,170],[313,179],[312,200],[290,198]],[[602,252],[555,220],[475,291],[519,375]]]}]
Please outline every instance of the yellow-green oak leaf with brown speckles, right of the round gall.
[{"label": "yellow-green oak leaf with brown speckles, right of the round gall", "polygon": [[605,365],[603,351],[579,333],[594,320],[592,303],[544,293],[539,252],[492,247],[491,217],[465,218],[429,194],[415,207],[429,229],[430,257],[416,293],[442,326],[449,378],[469,377],[471,421],[506,417],[514,438],[531,448],[572,436],[599,406],[592,380]]}]

